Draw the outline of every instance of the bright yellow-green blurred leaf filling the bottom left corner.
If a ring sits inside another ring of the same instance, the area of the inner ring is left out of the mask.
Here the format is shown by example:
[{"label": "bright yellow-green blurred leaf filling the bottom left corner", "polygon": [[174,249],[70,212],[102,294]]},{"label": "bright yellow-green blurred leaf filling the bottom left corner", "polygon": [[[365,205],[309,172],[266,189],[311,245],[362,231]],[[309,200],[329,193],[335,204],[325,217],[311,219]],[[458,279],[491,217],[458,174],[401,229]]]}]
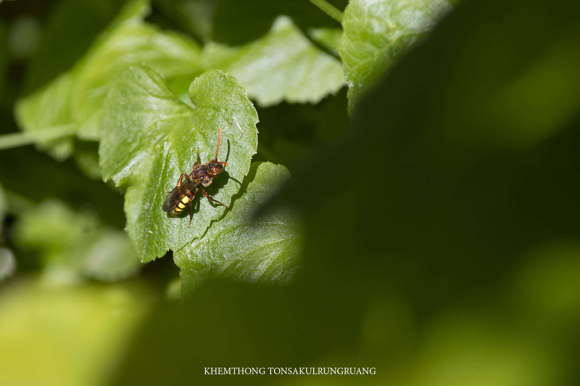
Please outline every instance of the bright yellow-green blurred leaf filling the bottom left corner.
[{"label": "bright yellow-green blurred leaf filling the bottom left corner", "polygon": [[158,300],[148,283],[138,281],[47,287],[21,280],[3,287],[0,383],[106,384]]}]

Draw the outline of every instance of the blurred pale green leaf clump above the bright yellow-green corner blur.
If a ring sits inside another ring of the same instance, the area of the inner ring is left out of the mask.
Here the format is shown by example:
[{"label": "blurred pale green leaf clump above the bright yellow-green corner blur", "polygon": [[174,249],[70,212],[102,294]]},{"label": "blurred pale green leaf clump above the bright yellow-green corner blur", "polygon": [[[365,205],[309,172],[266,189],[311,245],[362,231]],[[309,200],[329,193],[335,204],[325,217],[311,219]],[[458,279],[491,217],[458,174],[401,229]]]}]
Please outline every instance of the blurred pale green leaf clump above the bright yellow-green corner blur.
[{"label": "blurred pale green leaf clump above the bright yellow-green corner blur", "polygon": [[136,274],[139,258],[125,232],[104,227],[96,214],[44,201],[20,214],[14,243],[37,251],[45,265],[65,265],[82,275],[116,281]]}]

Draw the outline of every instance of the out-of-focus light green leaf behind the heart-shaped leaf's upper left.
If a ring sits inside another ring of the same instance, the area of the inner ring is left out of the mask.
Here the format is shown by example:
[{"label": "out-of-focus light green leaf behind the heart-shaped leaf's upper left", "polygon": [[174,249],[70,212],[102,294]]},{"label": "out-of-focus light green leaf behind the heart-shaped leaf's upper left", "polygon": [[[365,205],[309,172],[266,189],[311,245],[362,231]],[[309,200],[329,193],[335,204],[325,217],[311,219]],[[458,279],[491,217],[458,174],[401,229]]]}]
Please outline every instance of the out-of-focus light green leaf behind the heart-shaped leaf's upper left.
[{"label": "out-of-focus light green leaf behind the heart-shaped leaf's upper left", "polygon": [[[182,35],[143,23],[147,12],[146,2],[129,2],[72,70],[20,100],[15,107],[20,128],[46,130],[71,125],[81,139],[97,140],[100,108],[110,82],[130,64],[151,65],[165,75],[170,85],[175,85],[178,93],[186,94],[187,87],[183,85],[200,72],[200,49]],[[67,144],[64,148],[63,143]],[[39,144],[53,149],[52,154],[59,159],[73,151],[70,139]]]}]

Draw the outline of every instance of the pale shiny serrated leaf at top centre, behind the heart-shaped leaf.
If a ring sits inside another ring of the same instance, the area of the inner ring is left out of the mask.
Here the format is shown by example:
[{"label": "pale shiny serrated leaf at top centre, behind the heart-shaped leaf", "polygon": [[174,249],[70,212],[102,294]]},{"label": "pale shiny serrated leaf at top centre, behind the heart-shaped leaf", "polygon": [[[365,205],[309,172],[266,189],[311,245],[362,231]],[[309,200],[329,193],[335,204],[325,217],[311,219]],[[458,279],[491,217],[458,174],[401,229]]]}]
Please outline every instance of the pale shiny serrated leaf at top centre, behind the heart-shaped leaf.
[{"label": "pale shiny serrated leaf at top centre, behind the heart-shaped leaf", "polygon": [[[323,45],[332,45],[336,29],[313,31]],[[262,38],[240,48],[206,44],[202,66],[219,68],[236,77],[260,107],[282,100],[318,103],[345,84],[339,60],[313,45],[286,16],[278,17]]]}]

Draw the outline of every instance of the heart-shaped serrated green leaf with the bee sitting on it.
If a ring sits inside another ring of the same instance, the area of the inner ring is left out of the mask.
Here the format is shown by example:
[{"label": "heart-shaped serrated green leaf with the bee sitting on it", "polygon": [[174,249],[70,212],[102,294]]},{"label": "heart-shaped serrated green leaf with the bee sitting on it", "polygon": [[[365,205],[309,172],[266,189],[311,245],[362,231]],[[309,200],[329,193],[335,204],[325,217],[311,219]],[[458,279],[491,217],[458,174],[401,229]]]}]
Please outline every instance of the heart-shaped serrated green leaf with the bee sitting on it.
[{"label": "heart-shaped serrated green leaf with the bee sitting on it", "polygon": [[160,74],[139,65],[117,75],[104,103],[99,147],[103,179],[126,190],[127,230],[142,261],[181,249],[223,215],[224,206],[202,198],[194,202],[199,209],[187,228],[187,210],[171,218],[161,209],[164,188],[171,190],[181,173],[191,172],[196,147],[201,162],[208,162],[222,128],[218,159],[228,166],[208,194],[226,205],[256,153],[258,114],[237,79],[208,71],[191,83],[189,92],[194,107],[180,101]]}]

